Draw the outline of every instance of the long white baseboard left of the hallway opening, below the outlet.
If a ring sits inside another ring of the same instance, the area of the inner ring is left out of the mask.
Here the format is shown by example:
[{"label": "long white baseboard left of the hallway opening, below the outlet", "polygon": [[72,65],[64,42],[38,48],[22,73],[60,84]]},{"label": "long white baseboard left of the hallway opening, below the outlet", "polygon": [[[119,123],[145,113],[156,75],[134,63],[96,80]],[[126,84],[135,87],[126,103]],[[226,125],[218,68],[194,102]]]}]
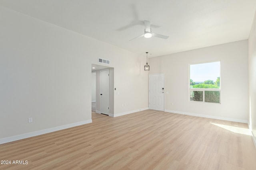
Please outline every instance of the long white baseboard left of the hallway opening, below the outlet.
[{"label": "long white baseboard left of the hallway opening, below the outlet", "polygon": [[62,129],[68,129],[70,127],[80,126],[80,125],[84,125],[84,124],[87,124],[87,123],[92,123],[92,119],[89,119],[89,120],[86,120],[86,121],[80,121],[80,122],[76,122],[76,123],[70,123],[68,125],[52,127],[52,128],[49,128],[49,129],[43,129],[43,130],[40,130],[40,131],[25,133],[25,134],[22,134],[22,135],[16,135],[16,136],[12,136],[12,137],[2,138],[2,139],[0,139],[0,144],[12,142],[12,141],[18,141],[20,139],[25,139],[25,138],[29,138],[29,137],[38,136],[38,135],[43,135],[43,134],[46,134],[46,133],[51,133],[51,132],[59,131],[59,130],[62,130]]}]

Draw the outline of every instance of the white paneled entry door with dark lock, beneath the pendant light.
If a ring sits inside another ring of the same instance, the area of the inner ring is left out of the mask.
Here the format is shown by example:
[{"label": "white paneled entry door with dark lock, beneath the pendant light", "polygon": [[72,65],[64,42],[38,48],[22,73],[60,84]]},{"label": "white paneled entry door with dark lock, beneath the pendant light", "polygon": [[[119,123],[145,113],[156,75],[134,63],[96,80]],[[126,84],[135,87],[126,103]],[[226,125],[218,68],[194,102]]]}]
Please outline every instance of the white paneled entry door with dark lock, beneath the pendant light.
[{"label": "white paneled entry door with dark lock, beneath the pendant light", "polygon": [[149,75],[149,109],[164,111],[164,73]]}]

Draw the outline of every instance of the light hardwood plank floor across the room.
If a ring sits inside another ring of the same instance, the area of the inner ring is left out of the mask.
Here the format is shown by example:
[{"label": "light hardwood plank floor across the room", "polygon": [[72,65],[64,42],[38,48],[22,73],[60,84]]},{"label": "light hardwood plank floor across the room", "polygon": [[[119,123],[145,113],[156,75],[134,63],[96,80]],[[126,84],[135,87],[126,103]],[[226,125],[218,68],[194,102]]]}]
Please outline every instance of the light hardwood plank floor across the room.
[{"label": "light hardwood plank floor across the room", "polygon": [[[247,124],[146,110],[0,145],[10,170],[255,170],[252,137],[220,125]],[[216,123],[216,124],[212,124]]]}]

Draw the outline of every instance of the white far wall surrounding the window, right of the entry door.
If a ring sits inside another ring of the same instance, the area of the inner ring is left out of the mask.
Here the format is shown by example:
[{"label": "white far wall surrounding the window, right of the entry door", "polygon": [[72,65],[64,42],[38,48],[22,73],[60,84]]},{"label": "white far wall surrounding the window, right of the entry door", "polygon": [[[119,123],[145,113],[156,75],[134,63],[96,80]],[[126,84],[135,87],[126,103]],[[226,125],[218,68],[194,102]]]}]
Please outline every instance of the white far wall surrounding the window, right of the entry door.
[{"label": "white far wall surrounding the window, right of the entry door", "polygon": [[[189,65],[212,61],[221,62],[221,104],[190,102]],[[149,65],[150,74],[165,73],[166,111],[247,122],[247,40],[150,58]]]}]

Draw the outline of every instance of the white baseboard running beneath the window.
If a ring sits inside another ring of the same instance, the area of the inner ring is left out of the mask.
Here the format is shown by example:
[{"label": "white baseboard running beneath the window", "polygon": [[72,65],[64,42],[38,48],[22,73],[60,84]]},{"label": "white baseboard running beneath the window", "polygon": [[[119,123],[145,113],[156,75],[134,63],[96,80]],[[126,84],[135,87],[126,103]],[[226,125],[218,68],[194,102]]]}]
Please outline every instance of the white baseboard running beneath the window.
[{"label": "white baseboard running beneath the window", "polygon": [[197,116],[197,117],[206,117],[206,118],[210,118],[210,119],[219,119],[219,120],[226,120],[226,121],[235,121],[235,122],[240,122],[240,123],[248,123],[248,120],[245,120],[245,119],[233,119],[233,118],[218,117],[218,116],[213,116],[213,115],[202,115],[202,114],[197,114],[197,113],[188,113],[188,112],[176,111],[176,110],[164,110],[164,111],[170,112],[170,113],[182,114],[182,115],[190,115],[190,116]]}]

